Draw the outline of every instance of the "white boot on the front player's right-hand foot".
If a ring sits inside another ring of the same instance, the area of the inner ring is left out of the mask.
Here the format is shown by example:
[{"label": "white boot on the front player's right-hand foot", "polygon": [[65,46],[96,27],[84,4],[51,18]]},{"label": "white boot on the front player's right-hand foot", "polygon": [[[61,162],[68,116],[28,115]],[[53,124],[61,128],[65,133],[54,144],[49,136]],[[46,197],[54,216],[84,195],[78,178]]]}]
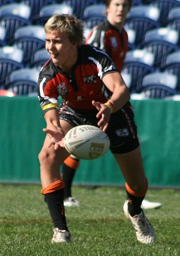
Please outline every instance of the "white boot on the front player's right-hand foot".
[{"label": "white boot on the front player's right-hand foot", "polygon": [[128,211],[128,201],[125,201],[123,209],[125,215],[131,220],[136,230],[137,240],[141,243],[154,243],[154,228],[145,216],[145,213],[142,211],[140,214],[136,214],[132,217]]}]

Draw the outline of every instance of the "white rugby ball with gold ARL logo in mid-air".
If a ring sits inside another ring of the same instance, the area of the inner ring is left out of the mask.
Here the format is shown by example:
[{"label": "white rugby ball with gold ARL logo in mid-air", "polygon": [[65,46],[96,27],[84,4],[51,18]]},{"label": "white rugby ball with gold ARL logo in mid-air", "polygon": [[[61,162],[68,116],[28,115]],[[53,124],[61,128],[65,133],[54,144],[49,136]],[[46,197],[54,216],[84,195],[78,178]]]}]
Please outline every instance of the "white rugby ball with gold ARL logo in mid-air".
[{"label": "white rugby ball with gold ARL logo in mid-air", "polygon": [[65,135],[64,146],[75,157],[92,160],[106,154],[110,140],[107,134],[96,126],[79,125]]}]

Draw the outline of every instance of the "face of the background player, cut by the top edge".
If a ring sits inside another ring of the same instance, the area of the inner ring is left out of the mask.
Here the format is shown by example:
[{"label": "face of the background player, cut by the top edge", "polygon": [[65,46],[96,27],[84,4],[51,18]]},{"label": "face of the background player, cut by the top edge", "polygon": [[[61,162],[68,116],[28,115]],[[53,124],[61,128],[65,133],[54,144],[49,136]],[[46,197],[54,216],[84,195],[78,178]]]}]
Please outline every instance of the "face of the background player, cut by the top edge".
[{"label": "face of the background player, cut by the top edge", "polygon": [[122,28],[129,11],[128,0],[112,0],[107,7],[107,19],[115,27]]}]

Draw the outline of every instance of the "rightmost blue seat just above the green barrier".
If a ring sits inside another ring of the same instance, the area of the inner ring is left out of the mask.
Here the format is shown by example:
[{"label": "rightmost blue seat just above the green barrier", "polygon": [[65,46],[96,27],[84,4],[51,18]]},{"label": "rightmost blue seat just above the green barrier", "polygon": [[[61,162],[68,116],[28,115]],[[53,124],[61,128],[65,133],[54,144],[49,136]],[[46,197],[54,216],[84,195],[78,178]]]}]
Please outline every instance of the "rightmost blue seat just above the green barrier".
[{"label": "rightmost blue seat just above the green barrier", "polygon": [[143,77],[141,93],[149,99],[163,99],[176,95],[178,79],[167,72],[155,72]]}]

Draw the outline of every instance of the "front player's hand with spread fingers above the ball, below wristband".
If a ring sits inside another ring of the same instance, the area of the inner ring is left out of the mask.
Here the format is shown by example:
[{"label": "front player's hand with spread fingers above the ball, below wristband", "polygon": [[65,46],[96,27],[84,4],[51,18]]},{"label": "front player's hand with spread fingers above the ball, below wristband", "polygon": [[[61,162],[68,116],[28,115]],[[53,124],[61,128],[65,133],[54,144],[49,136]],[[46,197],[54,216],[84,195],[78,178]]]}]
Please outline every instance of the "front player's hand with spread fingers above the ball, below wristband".
[{"label": "front player's hand with spread fingers above the ball, below wristband", "polygon": [[97,108],[98,113],[97,118],[100,118],[97,123],[101,130],[106,131],[110,119],[110,108],[104,105],[103,103],[92,101],[92,105]]}]

